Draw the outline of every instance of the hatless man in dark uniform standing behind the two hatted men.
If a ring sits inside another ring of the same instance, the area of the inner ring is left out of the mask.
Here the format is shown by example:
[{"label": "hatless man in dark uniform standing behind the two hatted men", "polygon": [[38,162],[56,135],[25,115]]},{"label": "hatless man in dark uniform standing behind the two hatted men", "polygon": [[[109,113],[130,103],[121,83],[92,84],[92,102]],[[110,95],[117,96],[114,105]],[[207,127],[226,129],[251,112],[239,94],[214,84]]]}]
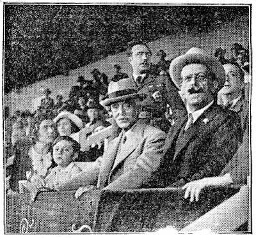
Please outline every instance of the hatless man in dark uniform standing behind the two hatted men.
[{"label": "hatless man in dark uniform standing behind the two hatted men", "polygon": [[151,50],[145,43],[137,43],[127,50],[129,63],[132,66],[132,84],[139,93],[147,95],[143,101],[143,111],[150,117],[150,124],[168,131],[171,124],[165,117],[167,105],[173,115],[184,115],[186,109],[179,97],[177,88],[168,75],[153,75],[150,72]]}]

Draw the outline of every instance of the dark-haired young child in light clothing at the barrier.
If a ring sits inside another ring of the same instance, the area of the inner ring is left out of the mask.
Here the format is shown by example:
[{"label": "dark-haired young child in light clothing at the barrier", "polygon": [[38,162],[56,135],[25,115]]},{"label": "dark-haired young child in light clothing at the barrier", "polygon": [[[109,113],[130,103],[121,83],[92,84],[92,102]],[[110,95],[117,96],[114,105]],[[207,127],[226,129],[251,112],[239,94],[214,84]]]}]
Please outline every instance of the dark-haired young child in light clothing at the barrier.
[{"label": "dark-haired young child in light clothing at the barrier", "polygon": [[73,162],[79,155],[80,145],[68,136],[60,136],[53,143],[52,158],[58,165],[45,178],[45,186],[51,189],[67,182],[81,172]]}]

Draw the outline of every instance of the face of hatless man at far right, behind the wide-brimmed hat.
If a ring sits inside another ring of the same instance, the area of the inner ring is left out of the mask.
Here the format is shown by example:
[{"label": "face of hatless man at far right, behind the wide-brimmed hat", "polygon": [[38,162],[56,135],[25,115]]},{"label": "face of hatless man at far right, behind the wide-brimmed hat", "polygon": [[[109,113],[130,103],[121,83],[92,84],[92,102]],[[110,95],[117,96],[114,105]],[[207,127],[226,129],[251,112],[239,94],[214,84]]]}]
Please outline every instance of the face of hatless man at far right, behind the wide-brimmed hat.
[{"label": "face of hatless man at far right, behind the wide-brimmed hat", "polygon": [[223,94],[241,92],[241,89],[244,87],[241,70],[234,64],[224,64],[223,67],[226,73],[226,80],[220,92]]}]

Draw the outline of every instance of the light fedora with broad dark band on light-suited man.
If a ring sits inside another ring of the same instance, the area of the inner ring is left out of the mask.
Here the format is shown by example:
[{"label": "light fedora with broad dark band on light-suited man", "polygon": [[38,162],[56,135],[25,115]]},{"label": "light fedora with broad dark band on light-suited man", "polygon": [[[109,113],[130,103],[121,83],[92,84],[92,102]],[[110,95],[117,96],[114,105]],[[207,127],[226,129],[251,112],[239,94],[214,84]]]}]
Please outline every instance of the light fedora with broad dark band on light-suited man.
[{"label": "light fedora with broad dark band on light-suited man", "polygon": [[140,98],[143,95],[138,94],[138,89],[131,78],[124,78],[117,82],[111,81],[108,86],[108,98],[100,101],[104,107],[108,107],[112,103],[124,101],[130,98]]}]

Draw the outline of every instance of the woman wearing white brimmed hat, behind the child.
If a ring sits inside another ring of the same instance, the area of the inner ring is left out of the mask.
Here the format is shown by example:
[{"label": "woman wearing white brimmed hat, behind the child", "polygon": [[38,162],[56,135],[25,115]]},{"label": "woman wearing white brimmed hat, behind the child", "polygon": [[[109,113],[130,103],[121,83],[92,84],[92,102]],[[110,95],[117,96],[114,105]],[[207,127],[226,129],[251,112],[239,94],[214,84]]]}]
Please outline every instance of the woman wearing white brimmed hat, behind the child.
[{"label": "woman wearing white brimmed hat, behind the child", "polygon": [[83,128],[83,121],[77,115],[63,111],[53,121],[57,124],[60,136],[66,135],[78,140],[78,132]]}]

